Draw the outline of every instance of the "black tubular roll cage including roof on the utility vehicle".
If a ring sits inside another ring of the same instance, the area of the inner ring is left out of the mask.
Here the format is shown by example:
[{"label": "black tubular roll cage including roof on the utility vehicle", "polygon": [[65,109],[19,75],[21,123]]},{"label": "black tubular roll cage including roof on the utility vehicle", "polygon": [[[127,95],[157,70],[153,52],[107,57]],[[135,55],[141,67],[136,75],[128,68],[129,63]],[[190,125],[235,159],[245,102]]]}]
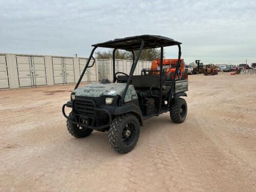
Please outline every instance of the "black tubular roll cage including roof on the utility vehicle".
[{"label": "black tubular roll cage including roof on the utility vehicle", "polygon": [[[129,88],[129,85],[131,84],[131,80],[132,80],[132,76],[134,74],[135,68],[137,66],[137,63],[139,61],[139,57],[140,54],[142,52],[143,49],[154,49],[154,48],[161,48],[161,53],[160,53],[160,82],[159,87],[160,87],[160,102],[159,102],[159,106],[158,106],[158,113],[160,113],[160,109],[161,109],[161,100],[162,100],[162,88],[163,88],[163,83],[164,80],[163,79],[163,48],[164,47],[168,47],[168,46],[178,46],[179,49],[179,54],[178,54],[178,65],[176,65],[176,70],[175,70],[175,74],[174,76],[176,77],[177,72],[178,72],[178,68],[180,66],[180,58],[181,58],[181,42],[175,41],[174,39],[168,38],[168,37],[163,37],[163,36],[158,36],[158,35],[140,35],[140,36],[133,36],[133,37],[126,37],[126,38],[121,38],[121,39],[114,39],[111,41],[106,41],[100,44],[95,44],[92,45],[93,50],[88,58],[88,61],[86,63],[86,66],[84,67],[82,74],[79,78],[79,80],[76,83],[75,89],[78,88],[81,79],[84,75],[84,73],[86,72],[87,68],[91,68],[94,66],[95,64],[95,59],[93,57],[94,51],[98,48],[98,47],[102,47],[102,48],[112,48],[113,50],[113,82],[116,82],[116,76],[115,76],[115,52],[117,49],[121,49],[121,50],[125,50],[125,51],[130,51],[133,54],[133,63],[132,63],[132,68],[129,74],[129,78],[127,79],[126,82],[126,86],[122,95],[122,98],[120,100],[120,106],[123,105],[123,99],[126,95],[127,89]],[[139,51],[138,52],[138,56],[135,58],[135,54],[134,51]],[[91,59],[93,58],[93,64],[91,66],[89,66],[89,63],[91,61]],[[174,96],[175,92],[174,92],[174,85],[175,85],[175,81],[176,79],[174,78],[172,80],[172,83],[170,83],[170,91],[169,91],[169,97],[168,97],[168,101],[167,101],[167,106],[169,106],[170,103],[170,99],[172,98],[172,96]],[[169,81],[168,81],[169,82]]]}]

